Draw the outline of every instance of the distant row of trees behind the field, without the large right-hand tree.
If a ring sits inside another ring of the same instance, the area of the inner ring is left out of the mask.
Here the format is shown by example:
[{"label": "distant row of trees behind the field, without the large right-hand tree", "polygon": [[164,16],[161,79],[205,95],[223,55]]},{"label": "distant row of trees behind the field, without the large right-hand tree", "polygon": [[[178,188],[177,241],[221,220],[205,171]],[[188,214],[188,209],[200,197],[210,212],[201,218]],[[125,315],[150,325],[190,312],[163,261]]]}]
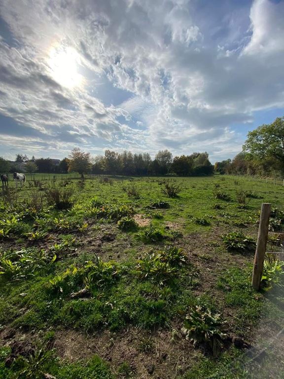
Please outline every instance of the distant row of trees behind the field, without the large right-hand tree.
[{"label": "distant row of trees behind the field, without the large right-hand tree", "polygon": [[19,163],[24,163],[24,171],[30,173],[67,173],[78,172],[110,175],[167,175],[178,176],[212,175],[213,165],[207,152],[194,152],[191,155],[180,155],[173,158],[168,150],[159,151],[154,159],[149,153],[122,153],[106,150],[104,155],[91,158],[90,153],[79,148],[55,164],[51,158],[29,159],[27,155],[17,154],[15,162],[0,158],[1,172],[19,171]]}]

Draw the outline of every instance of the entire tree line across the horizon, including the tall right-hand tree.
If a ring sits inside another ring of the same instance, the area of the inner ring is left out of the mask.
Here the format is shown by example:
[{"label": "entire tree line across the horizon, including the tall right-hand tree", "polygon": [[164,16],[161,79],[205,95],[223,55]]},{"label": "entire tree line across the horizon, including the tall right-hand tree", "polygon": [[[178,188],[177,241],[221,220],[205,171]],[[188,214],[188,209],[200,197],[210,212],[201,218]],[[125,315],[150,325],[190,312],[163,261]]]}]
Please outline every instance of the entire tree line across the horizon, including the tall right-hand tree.
[{"label": "entire tree line across the horizon, including the tall right-hand tree", "polygon": [[198,176],[218,174],[260,175],[284,177],[284,116],[271,124],[264,124],[248,133],[243,151],[232,160],[215,162],[209,160],[207,152],[173,157],[168,150],[157,152],[154,159],[149,153],[114,152],[106,150],[104,155],[91,158],[90,153],[79,148],[55,164],[51,158],[31,159],[17,154],[15,162],[0,157],[0,172],[15,172],[25,163],[26,172],[67,173],[78,172],[111,175],[167,175]]}]

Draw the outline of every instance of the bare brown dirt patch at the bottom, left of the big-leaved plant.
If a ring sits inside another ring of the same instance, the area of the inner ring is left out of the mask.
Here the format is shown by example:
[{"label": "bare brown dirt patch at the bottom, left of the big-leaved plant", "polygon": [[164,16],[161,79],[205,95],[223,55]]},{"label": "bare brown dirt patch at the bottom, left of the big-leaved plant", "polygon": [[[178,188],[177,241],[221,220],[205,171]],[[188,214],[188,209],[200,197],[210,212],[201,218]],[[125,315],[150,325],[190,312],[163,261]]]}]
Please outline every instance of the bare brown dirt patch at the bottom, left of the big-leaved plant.
[{"label": "bare brown dirt patch at the bottom, left of the big-leaved plant", "polygon": [[[143,351],[145,339],[151,341],[151,348],[147,352]],[[170,331],[161,330],[151,334],[135,328],[121,333],[103,331],[88,338],[76,331],[58,331],[54,347],[61,358],[69,361],[98,354],[111,362],[115,373],[126,362],[133,372],[133,378],[143,379],[175,378],[192,366],[198,354],[179,333],[173,338]]]}]

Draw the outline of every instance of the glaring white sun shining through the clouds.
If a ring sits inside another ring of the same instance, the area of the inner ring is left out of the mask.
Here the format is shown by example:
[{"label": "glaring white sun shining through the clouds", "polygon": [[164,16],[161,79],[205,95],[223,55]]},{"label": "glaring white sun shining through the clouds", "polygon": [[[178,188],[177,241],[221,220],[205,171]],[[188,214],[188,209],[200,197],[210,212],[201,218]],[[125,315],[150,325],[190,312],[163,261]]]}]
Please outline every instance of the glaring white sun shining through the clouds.
[{"label": "glaring white sun shining through the clouds", "polygon": [[47,64],[51,76],[60,85],[74,88],[83,84],[83,76],[78,73],[80,56],[74,48],[53,45],[49,49]]}]

